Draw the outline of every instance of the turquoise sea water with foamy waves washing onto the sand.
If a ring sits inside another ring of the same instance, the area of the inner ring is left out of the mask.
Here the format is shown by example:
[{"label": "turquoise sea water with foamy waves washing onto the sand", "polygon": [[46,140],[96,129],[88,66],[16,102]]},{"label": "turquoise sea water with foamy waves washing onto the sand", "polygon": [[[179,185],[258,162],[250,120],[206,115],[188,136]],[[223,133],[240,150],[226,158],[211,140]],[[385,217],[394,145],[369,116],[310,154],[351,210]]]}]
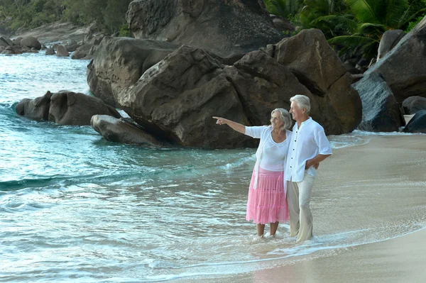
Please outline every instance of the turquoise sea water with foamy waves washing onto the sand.
[{"label": "turquoise sea water with foamy waves washing onto the sand", "polygon": [[[343,173],[324,163],[312,195],[315,237],[296,245],[288,225],[280,224],[276,238],[258,239],[254,224],[245,221],[255,149],[145,149],[107,142],[90,126],[58,126],[16,114],[18,101],[48,90],[88,93],[88,63],[43,52],[0,55],[0,282],[221,278],[423,228],[422,203],[378,204],[383,215],[361,223],[349,217],[359,208],[336,216],[332,205],[356,198],[351,186],[371,197],[368,186],[375,182],[344,182]],[[338,152],[359,148],[369,137],[355,131],[329,138]],[[412,165],[424,164],[424,153],[416,156]],[[334,160],[342,162],[339,155]],[[395,188],[408,182],[387,174],[381,174],[376,192],[386,194],[383,180]],[[420,190],[426,182],[410,184]],[[333,186],[339,192],[329,193]]]}]

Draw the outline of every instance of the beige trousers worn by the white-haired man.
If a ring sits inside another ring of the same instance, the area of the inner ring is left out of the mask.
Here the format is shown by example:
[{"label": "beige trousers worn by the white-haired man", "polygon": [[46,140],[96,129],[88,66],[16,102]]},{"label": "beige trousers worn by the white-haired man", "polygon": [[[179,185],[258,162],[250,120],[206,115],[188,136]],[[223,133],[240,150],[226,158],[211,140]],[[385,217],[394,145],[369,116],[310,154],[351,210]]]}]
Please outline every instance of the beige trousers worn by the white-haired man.
[{"label": "beige trousers worn by the white-haired man", "polygon": [[287,203],[290,215],[290,237],[297,235],[296,242],[312,238],[312,213],[310,196],[315,177],[307,174],[302,182],[288,182]]}]

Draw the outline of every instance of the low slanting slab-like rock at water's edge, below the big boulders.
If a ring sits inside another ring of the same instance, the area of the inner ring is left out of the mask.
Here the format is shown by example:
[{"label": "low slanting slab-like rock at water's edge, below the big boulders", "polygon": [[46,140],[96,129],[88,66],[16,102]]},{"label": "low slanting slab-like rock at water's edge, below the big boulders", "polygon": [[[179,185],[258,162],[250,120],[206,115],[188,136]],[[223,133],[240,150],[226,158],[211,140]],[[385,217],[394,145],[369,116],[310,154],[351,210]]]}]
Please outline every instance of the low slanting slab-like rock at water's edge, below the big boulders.
[{"label": "low slanting slab-like rock at water's edge, below the big boulders", "polygon": [[114,143],[129,143],[149,147],[162,147],[165,144],[143,131],[136,123],[124,118],[108,115],[94,115],[90,121],[94,131],[100,133],[105,140]]}]

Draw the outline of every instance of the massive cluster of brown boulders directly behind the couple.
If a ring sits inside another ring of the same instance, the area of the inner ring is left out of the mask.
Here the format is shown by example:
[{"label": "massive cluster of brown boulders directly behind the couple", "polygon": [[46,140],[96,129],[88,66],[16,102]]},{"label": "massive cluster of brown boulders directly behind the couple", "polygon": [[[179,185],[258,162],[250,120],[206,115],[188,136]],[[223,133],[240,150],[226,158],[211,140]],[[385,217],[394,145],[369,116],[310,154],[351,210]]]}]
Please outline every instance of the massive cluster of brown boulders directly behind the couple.
[{"label": "massive cluster of brown boulders directly behind the couple", "polygon": [[[351,88],[351,75],[320,35],[319,30],[306,30],[288,43],[285,39],[265,51],[249,52],[234,65],[184,45],[167,50],[170,54],[162,54],[164,59],[148,70],[146,54],[158,42],[148,41],[148,46],[146,40],[106,38],[88,67],[88,82],[95,96],[124,109],[148,133],[183,146],[255,145],[228,127],[218,128],[211,117],[248,126],[268,124],[271,111],[289,108],[295,94],[310,97],[311,115],[327,134],[348,133],[361,122],[361,99]],[[297,44],[310,44],[315,51],[301,53]],[[139,51],[141,46],[146,49]]]}]

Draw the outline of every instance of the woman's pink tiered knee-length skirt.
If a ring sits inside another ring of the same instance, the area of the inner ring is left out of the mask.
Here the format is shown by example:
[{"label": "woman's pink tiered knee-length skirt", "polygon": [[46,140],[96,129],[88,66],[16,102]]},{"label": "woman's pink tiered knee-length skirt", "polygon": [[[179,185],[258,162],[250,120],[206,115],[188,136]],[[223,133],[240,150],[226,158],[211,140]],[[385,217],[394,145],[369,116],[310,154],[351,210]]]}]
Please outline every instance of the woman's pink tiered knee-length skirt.
[{"label": "woman's pink tiered knee-length skirt", "polygon": [[256,174],[253,170],[247,201],[246,220],[266,224],[288,221],[283,172],[273,172],[259,167],[258,185],[253,189]]}]

